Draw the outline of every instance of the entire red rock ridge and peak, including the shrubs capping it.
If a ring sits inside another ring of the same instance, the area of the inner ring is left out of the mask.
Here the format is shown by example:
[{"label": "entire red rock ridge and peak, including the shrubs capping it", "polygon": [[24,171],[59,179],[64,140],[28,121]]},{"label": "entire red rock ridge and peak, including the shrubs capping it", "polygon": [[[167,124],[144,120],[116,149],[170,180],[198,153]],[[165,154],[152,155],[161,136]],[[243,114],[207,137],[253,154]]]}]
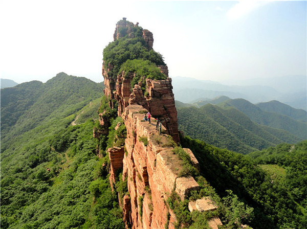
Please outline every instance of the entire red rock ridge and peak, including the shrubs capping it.
[{"label": "entire red rock ridge and peak, including the shrubs capping it", "polygon": [[[176,216],[170,198],[184,201],[192,191],[200,190],[191,174],[185,172],[186,165],[179,156],[187,155],[192,171],[197,172],[199,164],[191,150],[177,147],[180,138],[171,78],[162,56],[153,51],[152,44],[151,32],[123,18],[116,25],[114,42],[104,51],[104,93],[109,106],[117,107],[127,131],[123,146],[107,150],[111,185],[121,169],[122,180],[127,181],[128,194],[120,197],[126,228],[185,225]],[[150,124],[144,122],[147,112],[161,120],[162,134],[156,130],[155,120]],[[103,117],[100,113],[100,124],[107,129],[109,124]],[[102,132],[94,131],[94,135]],[[191,212],[214,209],[216,206],[209,199],[189,203]],[[215,217],[209,225],[217,228],[221,221]]]}]

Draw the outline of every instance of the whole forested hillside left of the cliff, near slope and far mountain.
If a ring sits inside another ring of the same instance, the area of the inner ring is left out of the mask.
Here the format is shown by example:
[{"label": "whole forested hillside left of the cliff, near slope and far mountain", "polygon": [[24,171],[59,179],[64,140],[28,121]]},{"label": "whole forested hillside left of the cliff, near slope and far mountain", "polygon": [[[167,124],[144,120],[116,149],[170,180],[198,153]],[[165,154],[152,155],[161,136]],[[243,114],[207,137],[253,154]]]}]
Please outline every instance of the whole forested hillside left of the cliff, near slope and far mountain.
[{"label": "whole forested hillside left of the cliff, near slope and far mountain", "polygon": [[61,73],[1,91],[1,228],[124,228],[93,139],[102,90]]}]

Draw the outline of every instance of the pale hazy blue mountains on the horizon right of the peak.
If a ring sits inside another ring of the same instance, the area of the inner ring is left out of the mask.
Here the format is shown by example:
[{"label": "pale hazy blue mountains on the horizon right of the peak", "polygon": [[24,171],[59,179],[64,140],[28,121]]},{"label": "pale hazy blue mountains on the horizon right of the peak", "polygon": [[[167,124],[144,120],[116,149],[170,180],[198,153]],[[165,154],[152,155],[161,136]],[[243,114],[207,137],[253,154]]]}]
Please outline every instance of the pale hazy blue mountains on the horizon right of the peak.
[{"label": "pale hazy blue mountains on the horizon right of the peak", "polygon": [[286,76],[270,79],[227,81],[222,84],[209,80],[172,77],[175,99],[184,103],[227,96],[252,103],[278,100],[297,109],[307,109],[306,76]]}]

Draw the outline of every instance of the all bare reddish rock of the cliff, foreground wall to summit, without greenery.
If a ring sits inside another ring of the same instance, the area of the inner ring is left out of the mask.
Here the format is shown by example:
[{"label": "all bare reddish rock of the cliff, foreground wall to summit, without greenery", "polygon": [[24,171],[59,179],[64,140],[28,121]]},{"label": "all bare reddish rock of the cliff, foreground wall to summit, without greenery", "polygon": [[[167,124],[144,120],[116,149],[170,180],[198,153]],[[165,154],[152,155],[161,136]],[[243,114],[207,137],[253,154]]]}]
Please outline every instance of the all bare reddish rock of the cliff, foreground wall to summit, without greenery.
[{"label": "all bare reddish rock of the cliff, foreground wall to summit, without greenery", "polygon": [[[115,39],[120,37],[117,32],[120,28],[133,26],[129,23],[123,20],[121,24],[117,24]],[[149,31],[143,31],[143,34],[152,36]],[[150,42],[150,39],[147,41]],[[121,203],[126,227],[175,228],[177,218],[167,203],[168,198],[176,193],[183,201],[191,191],[200,190],[200,186],[192,176],[180,174],[183,169],[182,159],[173,151],[180,139],[171,79],[143,79],[146,82],[145,91],[142,88],[144,84],[141,83],[135,84],[131,89],[131,80],[136,77],[135,73],[122,72],[114,83],[114,79],[108,76],[108,71],[113,67],[108,65],[106,70],[103,67],[105,95],[113,100],[109,102],[111,108],[117,101],[118,116],[124,121],[127,135],[123,147],[113,147],[107,151],[111,162],[111,185],[115,182],[119,169],[123,170],[122,180],[127,180],[129,194],[123,197]],[[160,70],[168,76],[167,66],[160,66]],[[150,124],[143,121],[144,113],[148,111],[152,117],[162,120],[162,134],[156,130],[154,119],[151,119]],[[191,150],[184,150],[190,156],[192,165],[199,168]],[[203,206],[208,205],[208,201],[196,204],[199,202],[191,202],[190,211],[214,209],[212,204],[211,208]],[[217,228],[221,221],[218,218],[214,220],[210,225]]]}]

